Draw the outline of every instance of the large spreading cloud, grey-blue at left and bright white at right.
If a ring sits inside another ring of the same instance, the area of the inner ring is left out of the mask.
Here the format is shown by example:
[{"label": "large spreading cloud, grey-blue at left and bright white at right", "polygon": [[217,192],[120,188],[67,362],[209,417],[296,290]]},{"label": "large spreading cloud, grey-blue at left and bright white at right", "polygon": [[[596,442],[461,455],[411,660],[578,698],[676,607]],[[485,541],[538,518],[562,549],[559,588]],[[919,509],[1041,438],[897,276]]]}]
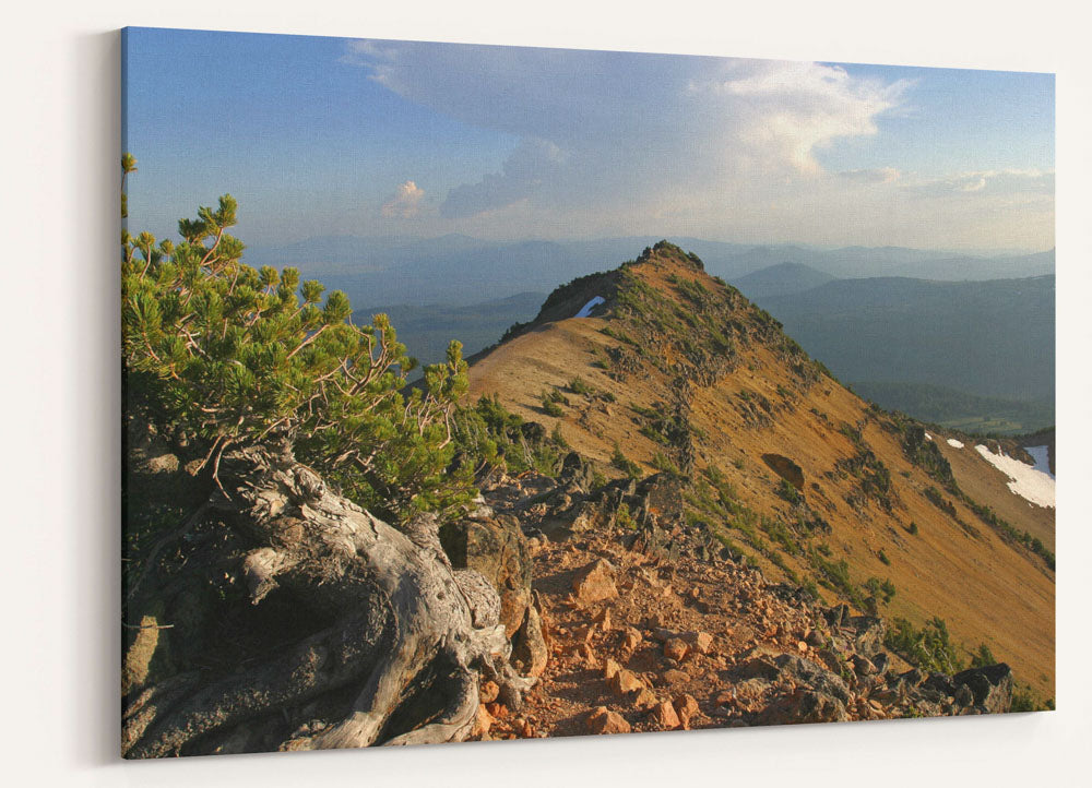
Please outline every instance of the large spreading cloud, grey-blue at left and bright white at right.
[{"label": "large spreading cloud, grey-blue at left and bright white at right", "polygon": [[816,148],[876,133],[907,84],[723,58],[373,41],[351,53],[405,98],[521,141],[501,171],[451,191],[448,217],[680,190],[716,203],[740,179],[814,177]]}]

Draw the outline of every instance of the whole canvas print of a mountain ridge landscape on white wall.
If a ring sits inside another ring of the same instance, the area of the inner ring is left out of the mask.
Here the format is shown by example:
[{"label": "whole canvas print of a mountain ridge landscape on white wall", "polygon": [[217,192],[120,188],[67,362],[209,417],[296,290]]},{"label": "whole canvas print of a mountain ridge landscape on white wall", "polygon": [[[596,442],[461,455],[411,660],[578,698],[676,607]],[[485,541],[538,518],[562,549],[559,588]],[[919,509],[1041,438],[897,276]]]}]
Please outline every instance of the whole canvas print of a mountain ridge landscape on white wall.
[{"label": "whole canvas print of a mountain ridge landscape on white wall", "polygon": [[1054,707],[1053,75],[122,51],[124,757]]}]

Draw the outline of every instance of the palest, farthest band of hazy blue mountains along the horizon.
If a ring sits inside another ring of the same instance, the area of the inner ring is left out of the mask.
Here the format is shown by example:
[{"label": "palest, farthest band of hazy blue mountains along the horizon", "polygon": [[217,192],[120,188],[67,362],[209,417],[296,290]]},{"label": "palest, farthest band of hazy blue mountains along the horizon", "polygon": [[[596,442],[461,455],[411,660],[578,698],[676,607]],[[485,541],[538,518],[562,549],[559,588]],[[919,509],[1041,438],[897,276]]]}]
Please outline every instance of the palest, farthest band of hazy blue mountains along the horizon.
[{"label": "palest, farthest band of hazy blue mountains along the horizon", "polygon": [[[429,239],[329,236],[281,247],[252,247],[252,264],[296,265],[305,276],[345,290],[354,303],[468,306],[484,298],[549,291],[565,282],[625,260],[658,238],[591,241],[486,241],[448,235]],[[751,246],[674,238],[697,253],[711,274],[735,280],[793,263],[833,278],[907,276],[984,280],[1054,273],[1054,250],[1023,255],[969,255],[898,247]]]}]

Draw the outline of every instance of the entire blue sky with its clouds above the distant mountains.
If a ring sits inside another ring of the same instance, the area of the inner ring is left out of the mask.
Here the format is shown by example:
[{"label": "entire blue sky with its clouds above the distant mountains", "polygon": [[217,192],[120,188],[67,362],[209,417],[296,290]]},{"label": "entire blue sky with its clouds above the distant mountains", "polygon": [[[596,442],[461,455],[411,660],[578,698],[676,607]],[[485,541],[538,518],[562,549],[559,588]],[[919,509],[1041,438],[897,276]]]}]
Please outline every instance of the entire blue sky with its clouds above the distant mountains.
[{"label": "entire blue sky with its clouds above the distant mountains", "polygon": [[1054,77],[130,28],[131,227],[1047,249]]}]

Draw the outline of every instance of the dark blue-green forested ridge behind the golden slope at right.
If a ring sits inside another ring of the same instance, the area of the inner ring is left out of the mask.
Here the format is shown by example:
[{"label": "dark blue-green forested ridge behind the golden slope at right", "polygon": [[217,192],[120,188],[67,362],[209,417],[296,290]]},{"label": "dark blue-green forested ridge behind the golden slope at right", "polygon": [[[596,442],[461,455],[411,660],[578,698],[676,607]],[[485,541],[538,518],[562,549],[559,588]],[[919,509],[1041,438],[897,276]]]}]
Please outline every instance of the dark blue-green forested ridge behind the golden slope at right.
[{"label": "dark blue-green forested ridge behind the golden slope at right", "polygon": [[877,277],[755,300],[841,380],[927,383],[1053,409],[1054,298],[1054,276]]}]

